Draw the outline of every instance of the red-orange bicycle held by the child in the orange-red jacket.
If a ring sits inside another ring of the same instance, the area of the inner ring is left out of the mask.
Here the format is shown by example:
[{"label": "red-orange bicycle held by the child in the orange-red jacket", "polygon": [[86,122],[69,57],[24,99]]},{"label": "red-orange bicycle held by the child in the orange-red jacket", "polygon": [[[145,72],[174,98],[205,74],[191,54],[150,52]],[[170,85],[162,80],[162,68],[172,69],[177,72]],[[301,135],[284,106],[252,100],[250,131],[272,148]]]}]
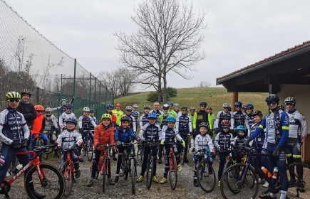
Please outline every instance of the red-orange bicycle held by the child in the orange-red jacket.
[{"label": "red-orange bicycle held by the child in the orange-red jacket", "polygon": [[[102,145],[102,144],[97,144],[95,146],[95,150],[100,151],[100,156],[99,156],[99,162],[98,162],[98,167],[97,167],[97,172],[95,174],[95,179],[98,178],[99,173],[103,175],[103,183],[102,183],[102,190],[105,192],[105,178],[108,176],[109,171],[108,171],[108,161],[110,161],[110,149],[112,146],[115,146],[115,144],[107,144],[107,145]],[[91,170],[93,168],[91,167]]]}]

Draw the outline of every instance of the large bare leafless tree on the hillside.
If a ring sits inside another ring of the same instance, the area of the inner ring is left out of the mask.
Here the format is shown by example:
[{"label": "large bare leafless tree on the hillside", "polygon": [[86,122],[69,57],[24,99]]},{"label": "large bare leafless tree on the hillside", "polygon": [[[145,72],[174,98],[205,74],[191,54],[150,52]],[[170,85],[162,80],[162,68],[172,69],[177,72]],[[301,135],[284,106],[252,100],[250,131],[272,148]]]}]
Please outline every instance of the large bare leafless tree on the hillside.
[{"label": "large bare leafless tree on the hillside", "polygon": [[207,27],[206,13],[195,12],[192,4],[181,6],[178,2],[143,1],[131,17],[138,32],[129,36],[114,33],[118,37],[120,62],[135,73],[135,82],[146,85],[145,88],[155,87],[160,102],[166,102],[169,73],[191,79],[187,71],[195,70],[194,66],[205,59],[205,53],[200,53],[205,36],[200,31]]}]

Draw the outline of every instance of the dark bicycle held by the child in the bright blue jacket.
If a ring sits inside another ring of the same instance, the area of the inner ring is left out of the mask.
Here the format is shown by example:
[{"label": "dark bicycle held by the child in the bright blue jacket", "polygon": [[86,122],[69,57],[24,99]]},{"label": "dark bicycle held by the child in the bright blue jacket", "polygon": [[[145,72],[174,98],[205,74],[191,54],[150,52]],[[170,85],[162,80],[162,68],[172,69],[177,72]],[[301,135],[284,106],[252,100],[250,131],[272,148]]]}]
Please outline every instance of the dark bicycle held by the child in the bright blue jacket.
[{"label": "dark bicycle held by the child in the bright blue jacket", "polygon": [[123,146],[127,146],[128,148],[123,152],[123,161],[120,166],[122,168],[123,173],[120,176],[124,176],[125,180],[128,178],[128,174],[130,174],[131,178],[131,192],[135,194],[135,177],[137,176],[137,163],[135,161],[135,143],[122,143]]}]

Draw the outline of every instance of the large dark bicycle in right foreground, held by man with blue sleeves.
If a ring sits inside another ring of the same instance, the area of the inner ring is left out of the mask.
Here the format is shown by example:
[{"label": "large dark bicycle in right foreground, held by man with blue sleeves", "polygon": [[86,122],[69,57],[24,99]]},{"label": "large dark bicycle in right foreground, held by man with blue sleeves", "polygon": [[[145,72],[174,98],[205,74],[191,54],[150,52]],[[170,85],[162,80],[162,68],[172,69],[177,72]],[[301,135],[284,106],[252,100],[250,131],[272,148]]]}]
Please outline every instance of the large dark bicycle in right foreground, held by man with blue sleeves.
[{"label": "large dark bicycle in right foreground, held by man with blue sleeves", "polygon": [[[247,183],[247,175],[245,173],[248,173],[249,171],[252,173],[252,176],[254,180],[258,182],[258,176],[257,173],[262,174],[265,181],[269,183],[268,190],[264,191],[262,194],[266,194],[269,192],[272,193],[278,193],[279,190],[281,190],[281,179],[279,179],[279,175],[277,177],[276,183],[273,183],[271,179],[269,179],[267,176],[264,175],[262,170],[254,164],[252,158],[256,156],[271,156],[267,154],[258,154],[255,150],[249,147],[244,147],[244,151],[247,154],[247,161],[245,163],[237,163],[232,166],[229,166],[229,168],[224,171],[222,179],[221,179],[221,193],[224,198],[255,198],[257,196],[257,193],[259,191],[259,183],[255,184],[253,188],[250,188]],[[302,167],[303,171],[303,178],[299,178],[299,175],[295,171],[295,167]],[[286,172],[294,173],[294,178],[291,179],[289,182],[289,192],[294,192],[296,190],[296,197],[299,197],[299,192],[302,192],[304,190],[310,190],[310,185],[306,183],[306,181],[309,181],[307,178],[305,178],[305,173],[308,174],[310,171],[310,166],[306,163],[292,163],[289,166],[286,164]],[[306,172],[305,172],[306,170]],[[232,171],[232,176],[228,176],[229,173]],[[310,173],[309,173],[310,174]],[[229,177],[229,178],[228,178]],[[309,178],[309,177],[308,177]],[[305,180],[307,179],[307,180]],[[232,180],[232,182],[229,182]],[[224,190],[225,185],[227,185],[229,192]],[[290,190],[290,188],[293,188]]]}]

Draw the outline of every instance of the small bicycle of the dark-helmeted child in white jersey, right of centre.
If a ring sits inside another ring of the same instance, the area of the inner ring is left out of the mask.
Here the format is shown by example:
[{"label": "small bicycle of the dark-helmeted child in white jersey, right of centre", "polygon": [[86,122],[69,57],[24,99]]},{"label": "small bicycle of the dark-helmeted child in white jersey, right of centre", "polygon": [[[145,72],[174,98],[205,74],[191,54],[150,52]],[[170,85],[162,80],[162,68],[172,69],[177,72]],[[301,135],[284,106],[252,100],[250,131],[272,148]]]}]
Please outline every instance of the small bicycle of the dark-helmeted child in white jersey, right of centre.
[{"label": "small bicycle of the dark-helmeted child in white jersey, right of centre", "polygon": [[[202,156],[202,161],[198,163],[197,166],[197,182],[206,193],[210,193],[215,189],[216,184],[216,177],[215,177],[215,170],[212,167],[212,164],[210,165],[210,161],[208,161],[208,157],[211,158],[211,154],[209,150],[206,149],[200,149],[198,150],[198,153],[196,156]],[[207,168],[207,169],[206,169]],[[213,178],[213,180],[209,179]],[[210,187],[210,189],[207,189]]]}]

